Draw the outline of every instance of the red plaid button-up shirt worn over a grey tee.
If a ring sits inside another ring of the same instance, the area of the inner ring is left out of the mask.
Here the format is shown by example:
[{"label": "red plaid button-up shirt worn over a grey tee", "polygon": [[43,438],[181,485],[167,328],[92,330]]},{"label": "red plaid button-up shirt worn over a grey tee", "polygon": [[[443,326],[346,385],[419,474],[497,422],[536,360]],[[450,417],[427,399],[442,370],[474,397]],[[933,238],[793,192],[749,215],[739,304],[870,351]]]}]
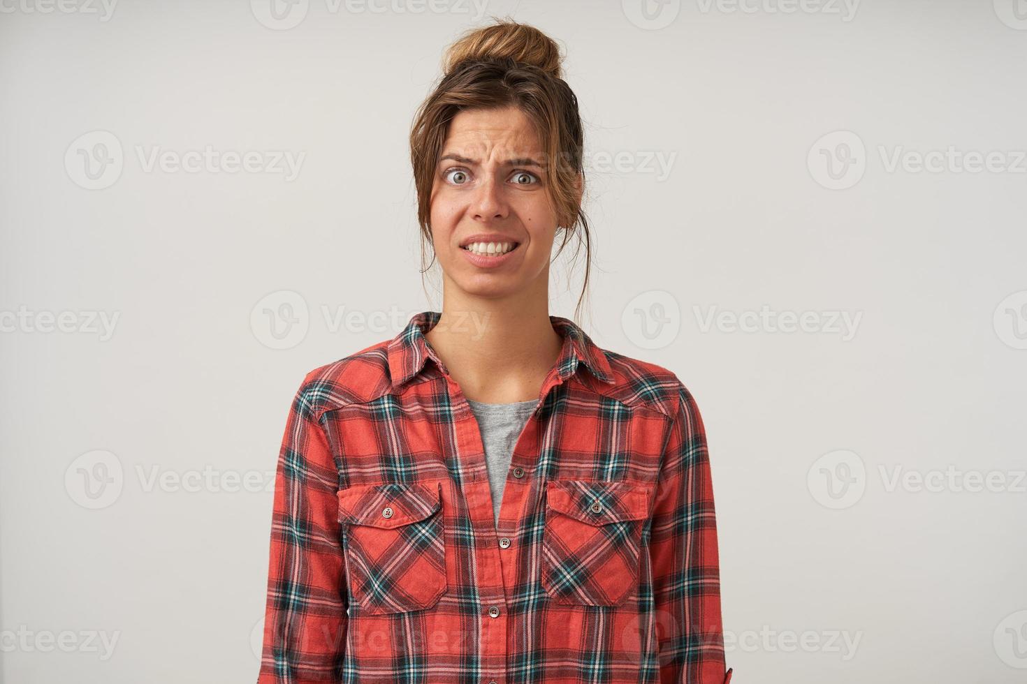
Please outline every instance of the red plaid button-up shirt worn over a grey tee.
[{"label": "red plaid button-up shirt worn over a grey tee", "polygon": [[424,336],[440,315],[296,394],[258,684],[727,684],[706,435],[677,375],[550,316],[563,349],[496,526],[478,423]]}]

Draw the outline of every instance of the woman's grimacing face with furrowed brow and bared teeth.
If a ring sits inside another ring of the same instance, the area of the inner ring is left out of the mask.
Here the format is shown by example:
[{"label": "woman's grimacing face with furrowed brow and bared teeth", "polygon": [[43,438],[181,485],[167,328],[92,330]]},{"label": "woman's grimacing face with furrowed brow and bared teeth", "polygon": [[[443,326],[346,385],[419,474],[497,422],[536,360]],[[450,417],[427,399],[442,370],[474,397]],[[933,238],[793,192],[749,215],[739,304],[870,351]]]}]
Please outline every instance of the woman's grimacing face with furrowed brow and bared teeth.
[{"label": "woman's grimacing face with furrowed brow and bared teeth", "polygon": [[451,284],[493,297],[545,291],[557,217],[544,161],[534,127],[517,108],[463,110],[453,118],[430,210],[435,255]]}]

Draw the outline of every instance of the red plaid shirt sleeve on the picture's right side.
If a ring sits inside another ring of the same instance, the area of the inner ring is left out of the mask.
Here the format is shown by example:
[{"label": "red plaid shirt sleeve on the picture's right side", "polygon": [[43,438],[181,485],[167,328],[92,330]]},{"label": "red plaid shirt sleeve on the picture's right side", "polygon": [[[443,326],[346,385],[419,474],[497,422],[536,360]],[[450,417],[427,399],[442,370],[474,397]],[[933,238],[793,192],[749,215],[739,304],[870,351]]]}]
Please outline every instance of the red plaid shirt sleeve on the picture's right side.
[{"label": "red plaid shirt sleeve on the picture's right side", "polygon": [[706,431],[679,380],[650,537],[660,684],[727,684],[720,563]]}]

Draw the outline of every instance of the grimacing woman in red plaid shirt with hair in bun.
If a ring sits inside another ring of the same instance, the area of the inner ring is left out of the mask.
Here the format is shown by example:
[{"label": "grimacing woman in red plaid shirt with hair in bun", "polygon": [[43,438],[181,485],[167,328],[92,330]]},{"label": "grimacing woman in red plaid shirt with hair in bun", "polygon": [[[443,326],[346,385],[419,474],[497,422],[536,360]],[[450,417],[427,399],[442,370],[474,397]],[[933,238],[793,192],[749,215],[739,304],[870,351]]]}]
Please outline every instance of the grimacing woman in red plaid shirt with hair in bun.
[{"label": "grimacing woman in red plaid shirt with hair in bun", "polygon": [[496,22],[417,113],[442,312],[296,395],[261,683],[730,681],[695,402],[548,314],[556,237],[588,245],[560,62]]}]

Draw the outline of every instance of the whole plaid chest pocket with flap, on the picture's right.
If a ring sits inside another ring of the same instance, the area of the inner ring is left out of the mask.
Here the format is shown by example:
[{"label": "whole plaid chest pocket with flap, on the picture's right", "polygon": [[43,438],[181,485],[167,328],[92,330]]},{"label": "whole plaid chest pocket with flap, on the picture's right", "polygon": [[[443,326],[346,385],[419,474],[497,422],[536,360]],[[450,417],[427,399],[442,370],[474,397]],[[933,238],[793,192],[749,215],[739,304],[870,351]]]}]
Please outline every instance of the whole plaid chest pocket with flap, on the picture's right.
[{"label": "whole plaid chest pocket with flap, on the picture's right", "polygon": [[636,592],[649,492],[626,482],[546,483],[541,584],[550,599],[612,606]]}]

